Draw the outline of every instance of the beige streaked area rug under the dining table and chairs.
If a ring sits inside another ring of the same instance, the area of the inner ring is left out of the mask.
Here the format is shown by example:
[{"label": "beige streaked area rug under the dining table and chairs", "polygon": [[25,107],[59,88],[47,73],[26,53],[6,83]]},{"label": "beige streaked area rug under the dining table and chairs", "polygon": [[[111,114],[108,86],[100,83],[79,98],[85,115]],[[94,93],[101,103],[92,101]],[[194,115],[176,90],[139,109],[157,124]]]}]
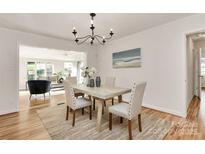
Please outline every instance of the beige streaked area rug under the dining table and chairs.
[{"label": "beige streaked area rug under the dining table and chairs", "polygon": [[[89,114],[76,114],[75,127],[72,127],[72,113],[68,121],[65,120],[66,106],[58,105],[38,110],[37,113],[51,138],[54,140],[127,140],[127,120],[120,124],[119,117],[113,116],[112,131],[108,129],[108,113],[105,112],[102,119],[101,132],[96,130],[96,112],[93,111],[93,118],[89,120]],[[133,120],[133,139],[138,140],[160,140],[163,139],[172,127],[170,121],[159,117],[142,114],[142,132],[139,132],[137,120]]]}]

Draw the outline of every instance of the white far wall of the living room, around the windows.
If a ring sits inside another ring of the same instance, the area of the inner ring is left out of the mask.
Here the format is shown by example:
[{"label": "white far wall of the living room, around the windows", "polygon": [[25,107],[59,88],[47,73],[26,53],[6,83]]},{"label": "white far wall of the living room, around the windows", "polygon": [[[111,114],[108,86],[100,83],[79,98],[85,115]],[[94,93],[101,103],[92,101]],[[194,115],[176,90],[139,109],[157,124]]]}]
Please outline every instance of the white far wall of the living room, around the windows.
[{"label": "white far wall of the living room, around the windows", "polygon": [[[54,72],[57,73],[64,70],[64,62],[62,60],[48,60],[48,59],[35,59],[35,58],[23,58],[19,59],[19,89],[26,89],[27,81],[27,62],[42,62],[42,63],[52,63],[54,65]],[[77,62],[72,61],[73,70],[71,76],[77,76]]]}]

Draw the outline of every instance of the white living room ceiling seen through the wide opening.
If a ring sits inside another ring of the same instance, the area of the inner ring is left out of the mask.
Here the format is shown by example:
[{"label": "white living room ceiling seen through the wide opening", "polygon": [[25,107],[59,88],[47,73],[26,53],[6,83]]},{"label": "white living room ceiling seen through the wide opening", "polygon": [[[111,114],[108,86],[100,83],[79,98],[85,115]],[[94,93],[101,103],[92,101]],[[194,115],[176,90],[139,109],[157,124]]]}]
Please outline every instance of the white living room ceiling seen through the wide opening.
[{"label": "white living room ceiling seen through the wide opening", "polygon": [[19,57],[60,61],[84,61],[86,54],[84,52],[64,51],[20,45]]}]

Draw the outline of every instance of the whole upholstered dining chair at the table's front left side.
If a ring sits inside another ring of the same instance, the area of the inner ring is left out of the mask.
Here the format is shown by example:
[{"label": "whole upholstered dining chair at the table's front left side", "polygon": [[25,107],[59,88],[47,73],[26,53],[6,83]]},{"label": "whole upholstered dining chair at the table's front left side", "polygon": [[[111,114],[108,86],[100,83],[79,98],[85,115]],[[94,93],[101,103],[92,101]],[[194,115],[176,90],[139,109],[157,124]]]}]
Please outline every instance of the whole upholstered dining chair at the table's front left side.
[{"label": "whole upholstered dining chair at the table's front left side", "polygon": [[[76,98],[74,94],[74,90],[72,88],[72,84],[69,81],[64,81],[65,88],[65,97],[66,97],[66,120],[68,120],[69,109],[73,111],[73,123],[72,126],[75,126],[75,112],[78,109],[84,109],[85,107],[89,107],[90,110],[90,120],[92,119],[92,102],[84,97]],[[84,113],[83,113],[84,114]]]}]

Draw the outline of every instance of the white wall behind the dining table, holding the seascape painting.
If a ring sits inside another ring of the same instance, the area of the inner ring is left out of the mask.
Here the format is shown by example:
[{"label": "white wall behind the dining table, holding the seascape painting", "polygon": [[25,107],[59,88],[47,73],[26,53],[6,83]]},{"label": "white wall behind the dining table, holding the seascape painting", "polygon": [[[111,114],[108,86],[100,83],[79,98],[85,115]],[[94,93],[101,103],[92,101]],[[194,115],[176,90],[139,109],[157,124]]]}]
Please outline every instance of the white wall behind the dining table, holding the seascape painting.
[{"label": "white wall behind the dining table, holding the seascape painting", "polygon": [[[147,81],[144,106],[185,117],[188,91],[185,34],[205,30],[204,19],[205,15],[194,15],[108,41],[97,52],[99,74],[116,76],[117,85],[123,87],[131,87],[134,81]],[[139,47],[141,68],[112,68],[113,52]],[[129,100],[129,96],[125,99]]]}]

